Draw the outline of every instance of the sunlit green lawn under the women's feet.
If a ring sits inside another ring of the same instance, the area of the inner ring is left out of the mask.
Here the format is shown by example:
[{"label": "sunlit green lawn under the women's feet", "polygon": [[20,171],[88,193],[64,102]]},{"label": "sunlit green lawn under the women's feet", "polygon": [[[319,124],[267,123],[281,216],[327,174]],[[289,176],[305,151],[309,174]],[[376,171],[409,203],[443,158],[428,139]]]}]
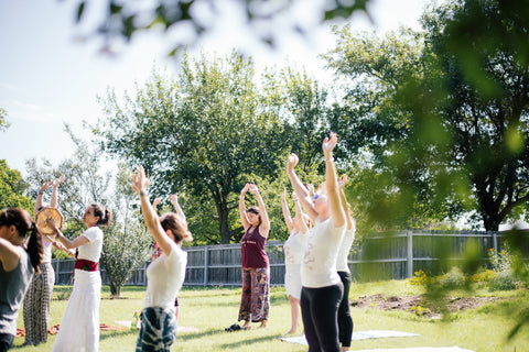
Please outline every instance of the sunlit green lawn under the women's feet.
[{"label": "sunlit green lawn under the women's feet", "polygon": [[[61,322],[66,307],[65,298],[69,287],[57,286],[52,301],[51,323]],[[420,295],[421,288],[403,280],[371,284],[353,284],[350,298],[360,295],[390,294],[395,296]],[[121,299],[111,299],[108,287],[104,287],[100,322],[116,326],[117,320],[132,320],[134,311],[141,310],[144,287],[126,287]],[[465,295],[456,293],[454,295]],[[487,290],[474,295],[490,296]],[[516,322],[516,317],[529,307],[526,290],[494,294],[504,300],[490,302],[476,309],[466,309],[446,319],[432,319],[410,311],[380,310],[376,308],[353,308],[355,331],[399,330],[420,334],[412,338],[388,338],[353,341],[352,350],[390,349],[411,346],[452,346],[476,352],[521,352],[529,351],[529,327],[525,327],[516,339],[506,337]],[[290,328],[290,306],[283,287],[271,289],[269,328],[266,330],[225,332],[236,322],[240,288],[184,288],[179,296],[181,318],[179,326],[196,328],[196,332],[181,332],[172,351],[306,351],[300,344],[280,340]],[[23,327],[22,314],[19,327]],[[100,351],[133,351],[137,331],[101,331]],[[41,346],[22,346],[23,339],[15,339],[13,351],[51,351],[55,336]]]}]

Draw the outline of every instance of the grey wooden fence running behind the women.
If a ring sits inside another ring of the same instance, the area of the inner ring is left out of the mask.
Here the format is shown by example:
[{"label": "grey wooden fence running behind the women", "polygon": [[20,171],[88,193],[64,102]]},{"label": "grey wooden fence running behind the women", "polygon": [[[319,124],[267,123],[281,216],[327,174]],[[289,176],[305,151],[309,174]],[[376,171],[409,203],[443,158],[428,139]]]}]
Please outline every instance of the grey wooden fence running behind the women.
[{"label": "grey wooden fence running behind the women", "polygon": [[[367,238],[360,249],[349,253],[349,267],[355,279],[402,279],[423,270],[434,273],[450,270],[464,261],[469,248],[479,251],[481,264],[486,265],[487,251],[501,250],[505,235],[487,233],[440,233],[428,231],[403,231],[376,234]],[[527,246],[527,241],[525,242]],[[283,243],[269,241],[271,285],[284,284]],[[187,270],[184,285],[188,286],[241,286],[240,244],[186,246]],[[527,249],[526,253],[527,253]],[[440,258],[443,260],[440,260]],[[147,285],[145,268],[136,271],[127,285]],[[73,260],[53,260],[55,283],[72,283]],[[108,284],[105,268],[100,267],[104,284]]]}]

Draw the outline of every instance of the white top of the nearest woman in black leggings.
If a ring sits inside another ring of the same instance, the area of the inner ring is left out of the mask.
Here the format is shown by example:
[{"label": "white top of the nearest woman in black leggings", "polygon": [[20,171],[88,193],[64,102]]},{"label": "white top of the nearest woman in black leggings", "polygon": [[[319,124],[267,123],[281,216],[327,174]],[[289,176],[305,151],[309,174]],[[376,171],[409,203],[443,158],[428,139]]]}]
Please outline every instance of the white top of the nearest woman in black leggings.
[{"label": "white top of the nearest woman in black leggings", "polygon": [[301,265],[303,287],[319,288],[339,283],[336,271],[336,257],[346,224],[336,228],[333,218],[325,221],[316,219],[315,227],[309,232],[306,251]]}]

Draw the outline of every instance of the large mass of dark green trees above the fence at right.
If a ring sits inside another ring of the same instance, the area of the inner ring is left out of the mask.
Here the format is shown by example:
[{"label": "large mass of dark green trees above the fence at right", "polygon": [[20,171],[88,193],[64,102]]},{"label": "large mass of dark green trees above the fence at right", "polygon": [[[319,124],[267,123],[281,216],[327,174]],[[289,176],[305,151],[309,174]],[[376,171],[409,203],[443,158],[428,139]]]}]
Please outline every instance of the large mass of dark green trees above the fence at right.
[{"label": "large mass of dark green trees above the fence at right", "polygon": [[[487,230],[519,215],[529,199],[527,42],[499,38],[519,36],[521,22],[501,2],[468,0],[427,12],[423,32],[337,31],[325,57],[352,88],[335,123],[350,122],[349,152],[364,145],[380,178],[374,213],[475,210]],[[473,25],[496,33],[494,44],[463,35]]]}]

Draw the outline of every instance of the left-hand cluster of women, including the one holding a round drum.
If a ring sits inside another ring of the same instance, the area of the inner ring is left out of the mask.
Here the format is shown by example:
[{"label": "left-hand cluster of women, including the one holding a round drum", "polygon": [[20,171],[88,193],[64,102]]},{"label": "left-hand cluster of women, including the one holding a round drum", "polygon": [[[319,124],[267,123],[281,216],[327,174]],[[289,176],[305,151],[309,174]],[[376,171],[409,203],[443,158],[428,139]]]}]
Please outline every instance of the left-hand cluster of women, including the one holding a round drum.
[{"label": "left-hand cluster of women, including the one holding a round drum", "polygon": [[[51,207],[57,207],[57,188],[53,183]],[[35,213],[42,208],[45,183],[36,200]],[[132,188],[141,201],[145,224],[159,252],[147,270],[148,286],[141,312],[141,329],[136,351],[170,351],[176,337],[175,298],[185,276],[186,252],[183,241],[192,235],[182,209],[158,216],[149,201],[149,179],[139,167]],[[177,202],[177,200],[176,200]],[[173,202],[174,204],[174,202]],[[51,219],[53,235],[42,235],[35,221],[23,209],[9,208],[0,212],[0,352],[8,351],[17,334],[17,317],[24,301],[25,344],[47,341],[51,293],[54,285],[51,246],[68,251],[77,249],[74,287],[61,321],[52,351],[91,352],[99,350],[99,302],[101,276],[98,271],[104,232],[111,221],[110,211],[93,204],[86,208],[83,223],[86,230],[69,240]],[[25,298],[24,298],[25,297]]]}]

